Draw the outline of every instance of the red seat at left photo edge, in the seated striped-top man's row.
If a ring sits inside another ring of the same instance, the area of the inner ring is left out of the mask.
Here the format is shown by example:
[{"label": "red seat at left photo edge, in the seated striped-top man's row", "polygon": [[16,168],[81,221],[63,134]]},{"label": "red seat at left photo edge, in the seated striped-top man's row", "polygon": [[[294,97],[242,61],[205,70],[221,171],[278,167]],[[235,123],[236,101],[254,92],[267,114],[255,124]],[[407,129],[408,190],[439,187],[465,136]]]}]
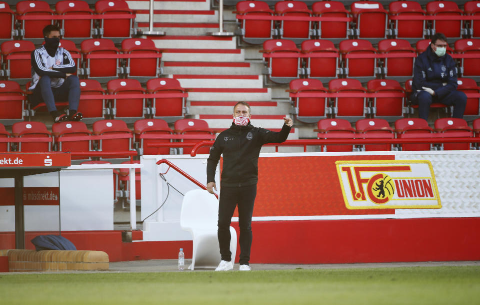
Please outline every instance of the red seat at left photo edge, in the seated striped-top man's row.
[{"label": "red seat at left photo edge, in the seated striped-top man's row", "polygon": [[0,101],[0,120],[4,123],[23,121],[25,109],[25,93],[14,81],[0,81],[0,97],[11,97],[11,100]]}]

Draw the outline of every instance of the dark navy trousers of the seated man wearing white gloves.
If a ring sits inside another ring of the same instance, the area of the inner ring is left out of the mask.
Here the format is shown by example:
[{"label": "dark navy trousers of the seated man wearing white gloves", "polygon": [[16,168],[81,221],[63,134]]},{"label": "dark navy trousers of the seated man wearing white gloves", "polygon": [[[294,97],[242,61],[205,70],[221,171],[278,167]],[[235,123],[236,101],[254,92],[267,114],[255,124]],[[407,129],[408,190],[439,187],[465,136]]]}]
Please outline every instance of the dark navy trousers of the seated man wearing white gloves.
[{"label": "dark navy trousers of the seated man wearing white gloves", "polygon": [[411,95],[411,102],[414,105],[418,105],[418,117],[428,121],[428,112],[430,111],[430,105],[434,103],[442,103],[447,106],[453,106],[453,117],[463,118],[463,112],[465,112],[466,95],[461,91],[453,90],[447,96],[437,99],[432,97],[426,91],[419,91]]}]

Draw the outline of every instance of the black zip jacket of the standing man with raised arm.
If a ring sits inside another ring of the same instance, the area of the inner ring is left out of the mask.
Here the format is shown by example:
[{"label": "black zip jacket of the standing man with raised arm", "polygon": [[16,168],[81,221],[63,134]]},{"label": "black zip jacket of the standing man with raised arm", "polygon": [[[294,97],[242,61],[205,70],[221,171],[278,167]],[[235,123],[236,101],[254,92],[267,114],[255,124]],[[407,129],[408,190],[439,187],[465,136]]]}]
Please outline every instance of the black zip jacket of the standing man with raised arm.
[{"label": "black zip jacket of the standing man with raised arm", "polygon": [[231,124],[215,140],[206,164],[206,182],[215,182],[215,169],[223,154],[221,186],[245,186],[258,181],[258,155],[263,144],[281,143],[290,133],[283,124],[280,132]]}]

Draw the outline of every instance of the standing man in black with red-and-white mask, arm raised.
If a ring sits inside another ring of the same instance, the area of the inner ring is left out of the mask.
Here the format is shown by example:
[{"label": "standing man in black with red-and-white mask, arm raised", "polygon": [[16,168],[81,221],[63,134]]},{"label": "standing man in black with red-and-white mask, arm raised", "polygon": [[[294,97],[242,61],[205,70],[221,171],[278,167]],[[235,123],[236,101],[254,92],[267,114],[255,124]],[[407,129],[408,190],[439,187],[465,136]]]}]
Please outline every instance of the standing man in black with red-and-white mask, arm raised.
[{"label": "standing man in black with red-and-white mask, arm raised", "polygon": [[266,143],[281,143],[290,133],[292,121],[283,118],[280,132],[272,132],[253,127],[250,122],[250,106],[238,102],[233,107],[233,123],[222,131],[215,140],[206,165],[207,189],[213,194],[215,169],[223,154],[221,171],[221,191],[218,207],[218,242],[221,261],[216,271],[231,270],[233,262],[230,252],[230,222],[235,206],[238,205],[238,224],[240,227],[240,267],[242,271],[250,270],[251,215],[256,196],[258,181],[258,155],[261,146]]}]

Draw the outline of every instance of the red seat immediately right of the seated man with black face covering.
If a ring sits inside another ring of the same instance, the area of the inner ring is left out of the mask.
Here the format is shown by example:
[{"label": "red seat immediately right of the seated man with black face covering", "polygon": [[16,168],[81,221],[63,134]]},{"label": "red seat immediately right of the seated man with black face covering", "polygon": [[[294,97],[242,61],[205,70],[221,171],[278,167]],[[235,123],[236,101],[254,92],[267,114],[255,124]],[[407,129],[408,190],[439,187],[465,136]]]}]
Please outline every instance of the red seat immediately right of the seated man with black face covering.
[{"label": "red seat immediately right of the seated man with black face covering", "polygon": [[[105,94],[105,90],[101,88],[100,83],[96,80],[80,80],[80,92],[81,96]],[[84,121],[102,119],[104,110],[104,99],[81,100],[78,105],[78,111],[83,114]]]}]

